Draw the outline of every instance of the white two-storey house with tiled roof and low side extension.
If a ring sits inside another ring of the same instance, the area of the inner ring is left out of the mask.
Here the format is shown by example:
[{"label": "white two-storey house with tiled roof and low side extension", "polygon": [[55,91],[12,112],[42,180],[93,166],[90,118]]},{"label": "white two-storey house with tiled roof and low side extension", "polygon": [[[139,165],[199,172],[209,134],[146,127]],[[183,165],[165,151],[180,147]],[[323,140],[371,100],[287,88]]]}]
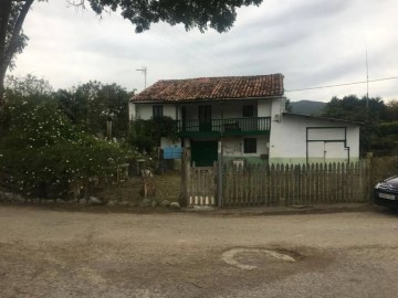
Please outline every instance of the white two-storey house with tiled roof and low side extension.
[{"label": "white two-storey house with tiled roof and low side extension", "polygon": [[179,140],[197,166],[224,162],[357,161],[359,124],[285,111],[283,75],[159,81],[135,95],[129,117],[176,120]]}]

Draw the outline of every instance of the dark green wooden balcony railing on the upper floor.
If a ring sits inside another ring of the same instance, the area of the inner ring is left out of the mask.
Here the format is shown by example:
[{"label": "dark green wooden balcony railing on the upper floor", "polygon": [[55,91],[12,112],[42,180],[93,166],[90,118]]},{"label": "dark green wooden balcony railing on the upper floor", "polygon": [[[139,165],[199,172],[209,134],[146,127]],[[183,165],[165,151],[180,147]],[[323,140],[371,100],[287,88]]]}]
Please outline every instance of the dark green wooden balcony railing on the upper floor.
[{"label": "dark green wooden balcony railing on the upper floor", "polygon": [[220,137],[261,135],[271,130],[271,117],[178,120],[179,137]]}]

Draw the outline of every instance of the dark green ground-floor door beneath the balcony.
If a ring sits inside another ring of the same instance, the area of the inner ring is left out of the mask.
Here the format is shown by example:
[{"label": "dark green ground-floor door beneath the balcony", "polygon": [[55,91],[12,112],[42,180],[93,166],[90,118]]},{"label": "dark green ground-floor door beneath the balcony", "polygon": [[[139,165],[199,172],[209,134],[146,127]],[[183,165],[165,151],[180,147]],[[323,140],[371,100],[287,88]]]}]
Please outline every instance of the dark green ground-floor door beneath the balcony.
[{"label": "dark green ground-floor door beneath the balcony", "polygon": [[217,141],[192,141],[191,158],[196,167],[210,167],[217,161]]}]

